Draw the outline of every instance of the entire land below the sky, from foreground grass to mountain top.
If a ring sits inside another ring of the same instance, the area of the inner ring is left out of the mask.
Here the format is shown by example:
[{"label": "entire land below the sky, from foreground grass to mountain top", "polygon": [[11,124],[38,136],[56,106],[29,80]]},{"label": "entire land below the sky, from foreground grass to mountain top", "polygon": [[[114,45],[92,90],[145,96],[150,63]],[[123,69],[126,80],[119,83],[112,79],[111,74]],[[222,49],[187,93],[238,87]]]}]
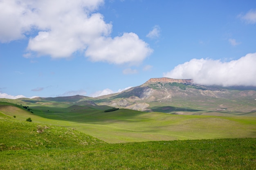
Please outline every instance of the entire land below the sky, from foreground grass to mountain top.
[{"label": "entire land below the sky, from foreground grass to mountain top", "polygon": [[254,87],[164,80],[97,98],[0,99],[0,168],[256,167]]}]

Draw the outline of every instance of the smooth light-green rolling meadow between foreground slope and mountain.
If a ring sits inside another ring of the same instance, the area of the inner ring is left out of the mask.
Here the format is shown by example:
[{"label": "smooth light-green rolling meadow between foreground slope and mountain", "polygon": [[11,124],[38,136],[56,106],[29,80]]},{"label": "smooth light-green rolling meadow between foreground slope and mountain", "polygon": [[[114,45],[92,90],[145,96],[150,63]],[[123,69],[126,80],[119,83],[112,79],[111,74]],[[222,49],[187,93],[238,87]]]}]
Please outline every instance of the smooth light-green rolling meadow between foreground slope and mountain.
[{"label": "smooth light-green rolling meadow between foreground slope and mountain", "polygon": [[2,104],[0,111],[23,121],[31,117],[33,122],[76,128],[110,143],[256,137],[253,116],[169,115],[126,109],[104,113],[77,105],[31,104],[29,108],[34,114],[16,105]]}]

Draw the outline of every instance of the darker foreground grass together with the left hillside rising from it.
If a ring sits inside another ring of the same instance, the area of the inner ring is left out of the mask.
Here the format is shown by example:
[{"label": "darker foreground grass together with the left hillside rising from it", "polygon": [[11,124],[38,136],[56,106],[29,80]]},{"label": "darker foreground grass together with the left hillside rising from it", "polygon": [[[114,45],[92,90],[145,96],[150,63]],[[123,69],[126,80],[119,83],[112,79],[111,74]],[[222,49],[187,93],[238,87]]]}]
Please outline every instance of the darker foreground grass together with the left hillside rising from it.
[{"label": "darker foreground grass together with the left hillside rising from it", "polygon": [[[106,144],[1,113],[0,126],[1,170],[256,169],[254,138]],[[44,132],[36,132],[39,126]]]}]

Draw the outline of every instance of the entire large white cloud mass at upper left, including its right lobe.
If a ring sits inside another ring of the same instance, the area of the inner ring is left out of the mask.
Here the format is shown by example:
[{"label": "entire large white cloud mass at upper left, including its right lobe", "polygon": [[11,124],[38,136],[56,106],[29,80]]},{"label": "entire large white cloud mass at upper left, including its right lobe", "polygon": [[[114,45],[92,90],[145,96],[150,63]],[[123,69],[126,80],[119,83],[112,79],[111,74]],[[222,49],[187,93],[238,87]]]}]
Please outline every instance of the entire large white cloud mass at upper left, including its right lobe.
[{"label": "entire large white cloud mass at upper left, including its right lobe", "polygon": [[71,57],[85,52],[92,61],[140,62],[152,53],[135,33],[111,38],[112,24],[96,10],[104,0],[1,0],[0,42],[29,37],[24,57]]}]

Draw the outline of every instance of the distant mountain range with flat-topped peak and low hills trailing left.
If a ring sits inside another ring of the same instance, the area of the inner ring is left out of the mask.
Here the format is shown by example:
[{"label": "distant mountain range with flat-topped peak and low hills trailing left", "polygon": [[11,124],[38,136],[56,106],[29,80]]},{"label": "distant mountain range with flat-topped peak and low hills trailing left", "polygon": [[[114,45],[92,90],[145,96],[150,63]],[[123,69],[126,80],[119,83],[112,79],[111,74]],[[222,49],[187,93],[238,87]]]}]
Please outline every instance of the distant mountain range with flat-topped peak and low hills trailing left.
[{"label": "distant mountain range with flat-topped peak and low hills trailing left", "polygon": [[[121,93],[100,97],[81,95],[69,97],[20,98],[34,104],[83,105],[127,108],[146,112],[170,114],[254,114],[256,112],[255,86],[204,86],[192,79],[151,78],[144,84]],[[47,103],[48,102],[48,103]],[[108,108],[106,107],[106,108]]]}]

